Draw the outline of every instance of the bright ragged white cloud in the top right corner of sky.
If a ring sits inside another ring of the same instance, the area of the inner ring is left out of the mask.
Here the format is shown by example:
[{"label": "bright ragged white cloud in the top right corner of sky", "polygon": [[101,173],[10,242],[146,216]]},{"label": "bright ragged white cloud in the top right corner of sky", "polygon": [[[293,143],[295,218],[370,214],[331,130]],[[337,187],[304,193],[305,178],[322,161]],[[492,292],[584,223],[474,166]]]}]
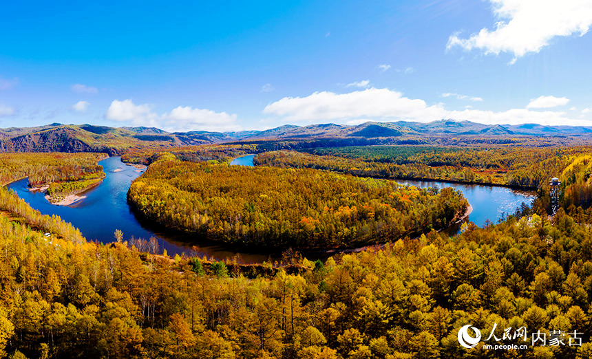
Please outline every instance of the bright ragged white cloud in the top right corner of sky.
[{"label": "bright ragged white cloud in the top right corner of sky", "polygon": [[507,52],[510,62],[529,52],[539,52],[557,36],[583,36],[592,25],[592,0],[489,0],[498,18],[495,29],[483,28],[468,39],[458,33],[448,39],[447,49],[479,49],[485,54]]}]

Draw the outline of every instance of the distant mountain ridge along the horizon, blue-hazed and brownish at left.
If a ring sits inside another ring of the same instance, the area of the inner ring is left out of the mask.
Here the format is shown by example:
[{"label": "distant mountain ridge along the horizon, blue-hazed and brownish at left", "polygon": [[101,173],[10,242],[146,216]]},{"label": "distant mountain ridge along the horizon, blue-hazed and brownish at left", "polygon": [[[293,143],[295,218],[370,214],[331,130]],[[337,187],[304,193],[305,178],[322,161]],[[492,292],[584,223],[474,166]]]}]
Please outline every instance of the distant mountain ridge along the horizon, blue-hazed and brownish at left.
[{"label": "distant mountain ridge along the horizon, blue-hazed and brownish at left", "polygon": [[[344,140],[351,143],[422,143],[425,139],[447,138],[561,137],[590,138],[592,127],[545,126],[542,124],[480,124],[470,121],[365,122],[358,125],[286,124],[264,131],[167,132],[156,127],[107,127],[92,124],[52,123],[38,127],[0,129],[0,151],[120,153],[133,147],[166,148],[195,144],[286,140]],[[366,142],[364,142],[366,141]]]}]

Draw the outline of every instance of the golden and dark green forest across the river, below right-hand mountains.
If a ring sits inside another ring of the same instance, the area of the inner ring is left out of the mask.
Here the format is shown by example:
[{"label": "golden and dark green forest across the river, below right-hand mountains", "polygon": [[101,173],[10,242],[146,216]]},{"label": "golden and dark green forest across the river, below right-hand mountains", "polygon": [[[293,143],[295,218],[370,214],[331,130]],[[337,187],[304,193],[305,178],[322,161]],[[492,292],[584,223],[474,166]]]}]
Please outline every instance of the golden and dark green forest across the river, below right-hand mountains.
[{"label": "golden and dark green forest across the river, below right-hand mountains", "polygon": [[306,151],[273,151],[257,165],[318,168],[360,177],[435,179],[539,188],[561,173],[573,155],[589,147],[425,147],[364,146]]}]

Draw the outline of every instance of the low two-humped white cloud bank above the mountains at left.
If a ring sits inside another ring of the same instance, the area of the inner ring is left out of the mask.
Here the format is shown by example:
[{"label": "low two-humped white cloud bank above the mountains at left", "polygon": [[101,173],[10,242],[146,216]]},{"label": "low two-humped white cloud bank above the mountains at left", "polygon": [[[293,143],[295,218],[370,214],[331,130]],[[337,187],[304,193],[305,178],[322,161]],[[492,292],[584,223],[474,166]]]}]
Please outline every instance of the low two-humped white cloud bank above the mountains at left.
[{"label": "low two-humped white cloud bank above the mountains at left", "polygon": [[176,107],[158,115],[149,104],[134,105],[131,100],[114,100],[105,113],[107,120],[130,122],[134,126],[158,127],[167,131],[237,131],[237,115],[209,109]]}]

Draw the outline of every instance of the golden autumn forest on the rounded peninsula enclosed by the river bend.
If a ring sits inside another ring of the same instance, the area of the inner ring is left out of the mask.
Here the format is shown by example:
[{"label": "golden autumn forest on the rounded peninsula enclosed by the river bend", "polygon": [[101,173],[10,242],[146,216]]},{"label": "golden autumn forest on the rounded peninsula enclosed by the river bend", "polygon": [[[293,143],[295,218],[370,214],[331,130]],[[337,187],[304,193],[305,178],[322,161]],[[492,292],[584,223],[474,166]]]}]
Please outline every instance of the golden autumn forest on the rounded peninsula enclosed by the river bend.
[{"label": "golden autumn forest on the rounded peninsula enclosed by the river bend", "polygon": [[228,166],[162,156],[129,188],[141,215],[238,246],[334,248],[445,228],[467,201],[452,188],[313,169]]}]

